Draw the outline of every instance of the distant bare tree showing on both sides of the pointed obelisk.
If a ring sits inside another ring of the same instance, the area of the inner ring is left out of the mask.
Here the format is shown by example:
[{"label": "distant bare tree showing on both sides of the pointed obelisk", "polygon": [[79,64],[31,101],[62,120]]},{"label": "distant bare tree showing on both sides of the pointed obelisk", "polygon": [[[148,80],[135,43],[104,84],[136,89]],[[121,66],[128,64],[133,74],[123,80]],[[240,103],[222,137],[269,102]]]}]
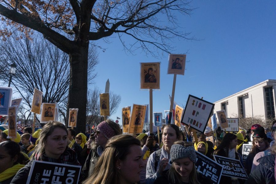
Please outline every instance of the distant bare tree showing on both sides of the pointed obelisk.
[{"label": "distant bare tree showing on both sides of the pointed obelisk", "polygon": [[[90,126],[97,126],[104,120],[104,117],[100,116],[100,93],[102,93],[102,91],[98,87],[95,87],[93,91],[88,91],[87,93],[86,123]],[[110,116],[116,113],[120,103],[121,96],[111,91],[109,93]]]}]

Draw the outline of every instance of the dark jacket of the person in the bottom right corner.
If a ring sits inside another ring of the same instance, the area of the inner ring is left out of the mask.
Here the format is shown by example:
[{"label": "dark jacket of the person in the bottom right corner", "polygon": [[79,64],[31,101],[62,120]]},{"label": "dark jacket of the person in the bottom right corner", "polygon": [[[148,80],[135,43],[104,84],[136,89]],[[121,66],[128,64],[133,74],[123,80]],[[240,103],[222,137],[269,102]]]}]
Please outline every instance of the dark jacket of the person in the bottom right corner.
[{"label": "dark jacket of the person in the bottom right corner", "polygon": [[257,160],[260,164],[252,171],[245,184],[275,184],[275,155],[268,155]]}]

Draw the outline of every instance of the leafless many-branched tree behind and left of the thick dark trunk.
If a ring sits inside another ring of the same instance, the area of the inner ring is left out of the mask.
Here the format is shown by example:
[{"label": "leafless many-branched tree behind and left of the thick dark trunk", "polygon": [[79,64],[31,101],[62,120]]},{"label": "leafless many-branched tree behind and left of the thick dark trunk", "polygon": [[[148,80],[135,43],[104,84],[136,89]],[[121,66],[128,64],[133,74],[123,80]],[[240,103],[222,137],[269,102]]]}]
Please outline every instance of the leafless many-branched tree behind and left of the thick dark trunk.
[{"label": "leafless many-branched tree behind and left of the thick dark trunk", "polygon": [[[17,36],[15,33],[0,44],[0,65],[8,65],[10,61],[17,65],[12,87],[24,100],[20,112],[25,115],[25,111],[31,109],[33,90],[37,88],[43,91],[42,102],[57,102],[59,112],[65,119],[70,83],[68,55],[44,40],[40,34],[33,35],[32,40],[17,40]],[[89,81],[93,82],[96,77],[94,67],[98,64],[97,52],[91,49],[89,57]],[[8,72],[2,71],[2,85],[9,81]]]}]

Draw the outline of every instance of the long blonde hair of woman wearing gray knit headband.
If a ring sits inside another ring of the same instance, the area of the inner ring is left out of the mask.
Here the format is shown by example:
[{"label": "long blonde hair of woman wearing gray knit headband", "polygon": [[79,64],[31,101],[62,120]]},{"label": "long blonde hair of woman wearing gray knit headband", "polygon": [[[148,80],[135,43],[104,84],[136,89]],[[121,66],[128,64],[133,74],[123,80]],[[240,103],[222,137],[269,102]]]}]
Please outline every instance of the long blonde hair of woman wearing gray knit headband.
[{"label": "long blonde hair of woman wearing gray knit headband", "polygon": [[[193,143],[187,142],[187,141],[176,141],[174,144],[180,144],[184,147],[193,146]],[[178,174],[178,172],[174,168],[174,162],[171,165],[170,170],[168,171],[168,179],[174,184],[181,184],[181,176]],[[197,170],[195,168],[195,164],[193,163],[193,169],[189,176],[189,183],[191,184],[200,184],[197,180]]]}]

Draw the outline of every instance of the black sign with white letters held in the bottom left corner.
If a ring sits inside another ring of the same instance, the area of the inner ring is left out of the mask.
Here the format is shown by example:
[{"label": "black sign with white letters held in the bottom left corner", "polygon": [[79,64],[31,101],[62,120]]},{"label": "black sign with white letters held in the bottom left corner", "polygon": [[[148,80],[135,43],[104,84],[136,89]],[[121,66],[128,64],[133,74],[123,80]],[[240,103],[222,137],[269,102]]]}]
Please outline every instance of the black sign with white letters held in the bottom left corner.
[{"label": "black sign with white letters held in the bottom left corner", "polygon": [[81,166],[33,160],[27,184],[71,183],[77,184]]}]

